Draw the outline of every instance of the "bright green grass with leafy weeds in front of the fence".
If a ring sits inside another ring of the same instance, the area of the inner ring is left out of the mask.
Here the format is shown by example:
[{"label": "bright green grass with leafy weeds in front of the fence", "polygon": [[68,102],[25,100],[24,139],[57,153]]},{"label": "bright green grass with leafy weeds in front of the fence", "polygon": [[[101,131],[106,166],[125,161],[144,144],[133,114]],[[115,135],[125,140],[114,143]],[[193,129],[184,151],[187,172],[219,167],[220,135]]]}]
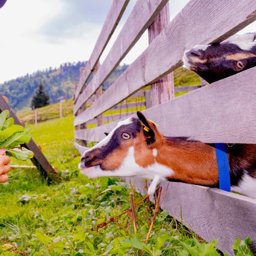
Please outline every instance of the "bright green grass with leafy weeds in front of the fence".
[{"label": "bright green grass with leafy weeds in front of the fence", "polygon": [[[129,211],[116,217],[130,209],[134,190],[118,179],[81,175],[73,130],[72,116],[33,126],[33,138],[58,168],[61,182],[47,184],[36,169],[15,169],[9,182],[0,184],[1,256],[221,255],[214,247],[217,241],[202,241],[166,211],[157,215],[145,243],[154,214],[147,200],[135,207],[134,234]],[[135,192],[134,201],[141,199]],[[250,255],[242,249],[239,255]]]}]

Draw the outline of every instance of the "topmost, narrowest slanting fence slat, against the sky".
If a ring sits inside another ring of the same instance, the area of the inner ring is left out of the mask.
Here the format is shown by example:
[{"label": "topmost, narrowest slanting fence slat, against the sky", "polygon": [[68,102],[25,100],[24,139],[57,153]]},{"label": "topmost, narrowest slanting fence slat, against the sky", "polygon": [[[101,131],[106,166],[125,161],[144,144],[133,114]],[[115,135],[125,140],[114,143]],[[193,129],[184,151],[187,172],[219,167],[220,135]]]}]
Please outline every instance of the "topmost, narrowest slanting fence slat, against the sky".
[{"label": "topmost, narrowest slanting fence slat, against the sky", "polygon": [[119,20],[121,19],[128,3],[129,0],[113,0],[111,8],[108,12],[108,16],[106,17],[106,20],[102,26],[102,30],[99,34],[98,40],[95,44],[90,59],[89,61],[87,61],[87,64],[80,76],[79,85],[75,91],[75,102],[77,100],[77,97],[79,96],[79,93],[81,92],[82,87],[84,86],[84,83],[89,78],[91,70],[94,69],[97,61],[102,55],[102,52],[108,44],[108,41],[110,40],[113,32],[115,31],[116,26],[119,23]]}]

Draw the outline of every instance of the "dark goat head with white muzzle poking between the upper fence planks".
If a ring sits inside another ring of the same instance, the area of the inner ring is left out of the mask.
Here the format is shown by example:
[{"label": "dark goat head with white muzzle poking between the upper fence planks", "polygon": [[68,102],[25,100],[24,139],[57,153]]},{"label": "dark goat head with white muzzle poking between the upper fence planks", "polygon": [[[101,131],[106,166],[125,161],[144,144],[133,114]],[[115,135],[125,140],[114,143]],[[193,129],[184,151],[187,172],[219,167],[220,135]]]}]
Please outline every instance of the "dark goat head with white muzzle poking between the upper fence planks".
[{"label": "dark goat head with white muzzle poking between the upper fence planks", "polygon": [[221,43],[196,45],[183,63],[209,83],[256,66],[256,32],[233,35]]}]

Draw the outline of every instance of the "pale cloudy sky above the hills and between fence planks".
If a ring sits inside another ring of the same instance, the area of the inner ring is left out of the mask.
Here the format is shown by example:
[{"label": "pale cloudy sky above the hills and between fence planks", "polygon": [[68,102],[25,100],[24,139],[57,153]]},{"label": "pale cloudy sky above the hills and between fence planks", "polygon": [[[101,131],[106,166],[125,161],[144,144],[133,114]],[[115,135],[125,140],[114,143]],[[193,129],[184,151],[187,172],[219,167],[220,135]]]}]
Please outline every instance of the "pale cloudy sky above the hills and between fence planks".
[{"label": "pale cloudy sky above the hills and between fence planks", "polygon": [[[130,0],[100,58],[104,61],[136,0]],[[189,0],[170,1],[172,19]],[[112,0],[7,0],[0,9],[0,83],[90,58]],[[242,32],[256,31],[256,23]],[[121,64],[132,63],[148,46],[145,32]]]}]

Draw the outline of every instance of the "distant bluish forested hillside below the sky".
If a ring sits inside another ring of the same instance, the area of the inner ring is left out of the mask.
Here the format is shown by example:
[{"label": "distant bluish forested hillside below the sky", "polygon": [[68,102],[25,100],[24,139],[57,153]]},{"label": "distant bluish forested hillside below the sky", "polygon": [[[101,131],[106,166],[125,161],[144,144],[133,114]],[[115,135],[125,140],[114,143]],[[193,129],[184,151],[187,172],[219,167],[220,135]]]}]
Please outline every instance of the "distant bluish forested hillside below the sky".
[{"label": "distant bluish forested hillside below the sky", "polygon": [[[58,97],[62,95],[70,99],[73,95],[74,83],[79,81],[79,67],[84,67],[85,64],[86,61],[68,62],[58,68],[50,67],[33,74],[26,74],[0,84],[0,93],[7,96],[9,104],[15,111],[30,108],[31,98],[41,81],[50,96],[50,104],[56,103]],[[104,87],[108,87],[126,68],[127,65],[117,67]]]}]

